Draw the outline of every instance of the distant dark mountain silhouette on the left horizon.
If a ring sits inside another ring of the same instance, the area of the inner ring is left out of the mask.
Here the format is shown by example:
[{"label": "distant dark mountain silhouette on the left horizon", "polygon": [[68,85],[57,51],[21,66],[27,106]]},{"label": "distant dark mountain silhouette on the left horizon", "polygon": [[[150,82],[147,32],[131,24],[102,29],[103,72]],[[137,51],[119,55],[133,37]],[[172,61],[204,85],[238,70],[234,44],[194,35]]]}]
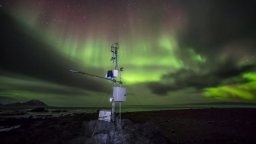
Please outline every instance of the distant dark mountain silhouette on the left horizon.
[{"label": "distant dark mountain silhouette on the left horizon", "polygon": [[2,107],[48,107],[42,101],[39,100],[30,100],[23,103],[17,102],[12,104],[2,104]]}]

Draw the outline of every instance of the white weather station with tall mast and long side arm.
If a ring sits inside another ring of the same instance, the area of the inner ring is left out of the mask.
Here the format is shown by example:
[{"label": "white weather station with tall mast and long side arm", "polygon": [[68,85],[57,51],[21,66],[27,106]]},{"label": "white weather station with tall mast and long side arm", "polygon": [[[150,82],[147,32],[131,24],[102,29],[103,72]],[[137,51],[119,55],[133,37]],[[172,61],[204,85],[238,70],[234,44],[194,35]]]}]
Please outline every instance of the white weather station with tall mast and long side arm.
[{"label": "white weather station with tall mast and long side arm", "polygon": [[[119,49],[118,43],[114,43],[111,46],[112,57],[110,61],[114,63],[114,70],[108,70],[105,77],[99,75],[93,75],[86,72],[80,72],[77,70],[70,70],[71,72],[90,75],[97,78],[103,78],[105,80],[111,81],[113,85],[113,93],[110,98],[111,110],[100,110],[98,120],[104,120],[108,122],[119,122],[121,123],[121,113],[122,113],[122,102],[126,101],[126,88],[123,88],[122,75],[123,67],[119,68],[118,66],[118,54],[117,50]],[[116,103],[119,103],[119,114],[115,114]]]}]

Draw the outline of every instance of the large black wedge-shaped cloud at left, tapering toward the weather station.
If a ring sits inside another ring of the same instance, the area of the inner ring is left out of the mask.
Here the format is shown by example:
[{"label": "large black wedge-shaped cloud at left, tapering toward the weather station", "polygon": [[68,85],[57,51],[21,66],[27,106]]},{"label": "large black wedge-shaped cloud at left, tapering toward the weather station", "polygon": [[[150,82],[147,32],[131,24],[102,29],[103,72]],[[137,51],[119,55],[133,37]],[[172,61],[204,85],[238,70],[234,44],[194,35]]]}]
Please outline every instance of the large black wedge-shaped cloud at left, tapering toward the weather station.
[{"label": "large black wedge-shaped cloud at left, tapering toward the weather station", "polygon": [[[0,74],[11,73],[29,75],[30,78],[52,82],[58,85],[82,88],[88,91],[107,91],[105,83],[69,72],[69,69],[81,68],[76,62],[66,59],[46,43],[33,36],[28,28],[24,34],[21,27],[6,14],[0,13],[5,20],[0,27],[2,46],[0,53]],[[94,69],[86,69],[95,72]]]}]

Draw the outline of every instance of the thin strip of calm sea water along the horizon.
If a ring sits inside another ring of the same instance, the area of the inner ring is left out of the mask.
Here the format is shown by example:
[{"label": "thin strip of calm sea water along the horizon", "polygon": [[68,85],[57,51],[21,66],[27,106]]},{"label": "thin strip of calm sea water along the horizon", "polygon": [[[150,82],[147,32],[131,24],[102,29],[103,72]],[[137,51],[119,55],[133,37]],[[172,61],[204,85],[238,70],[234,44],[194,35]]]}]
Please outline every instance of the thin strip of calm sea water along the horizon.
[{"label": "thin strip of calm sea water along the horizon", "polygon": [[[200,109],[219,106],[175,106],[175,107],[156,107],[156,106],[139,106],[139,107],[122,107],[121,112],[139,112],[153,110],[181,110],[181,109]],[[255,106],[221,106],[219,108],[256,108]],[[98,110],[111,110],[111,107],[45,107],[47,112],[30,112],[32,107],[1,107],[0,117],[59,117],[75,114],[93,114]],[[119,113],[120,108],[115,107],[115,112]]]}]

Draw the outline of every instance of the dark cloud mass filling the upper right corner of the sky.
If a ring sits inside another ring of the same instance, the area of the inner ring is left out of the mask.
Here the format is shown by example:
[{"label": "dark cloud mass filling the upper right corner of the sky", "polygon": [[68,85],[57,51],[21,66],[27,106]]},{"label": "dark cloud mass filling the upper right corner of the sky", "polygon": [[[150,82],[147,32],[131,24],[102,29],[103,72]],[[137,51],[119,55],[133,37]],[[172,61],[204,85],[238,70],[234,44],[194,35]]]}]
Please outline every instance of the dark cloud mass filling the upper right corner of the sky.
[{"label": "dark cloud mass filling the upper right corner of the sky", "polygon": [[182,47],[194,47],[207,56],[217,56],[213,53],[221,53],[222,46],[231,41],[255,41],[256,12],[250,2],[201,1],[183,5],[187,24],[178,33]]}]

